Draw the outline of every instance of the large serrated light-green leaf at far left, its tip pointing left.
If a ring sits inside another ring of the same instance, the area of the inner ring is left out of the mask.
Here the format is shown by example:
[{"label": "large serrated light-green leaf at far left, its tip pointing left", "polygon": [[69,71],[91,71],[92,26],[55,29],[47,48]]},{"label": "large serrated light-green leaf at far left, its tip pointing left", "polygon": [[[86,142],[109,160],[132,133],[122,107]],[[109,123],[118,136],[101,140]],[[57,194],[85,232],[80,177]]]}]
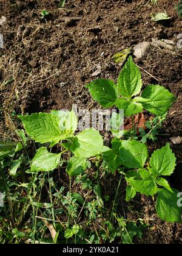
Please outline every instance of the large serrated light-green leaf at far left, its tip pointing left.
[{"label": "large serrated light-green leaf at far left, its tip pointing left", "polygon": [[60,119],[56,115],[35,113],[30,116],[19,116],[28,135],[39,143],[58,143],[68,134],[59,129]]}]

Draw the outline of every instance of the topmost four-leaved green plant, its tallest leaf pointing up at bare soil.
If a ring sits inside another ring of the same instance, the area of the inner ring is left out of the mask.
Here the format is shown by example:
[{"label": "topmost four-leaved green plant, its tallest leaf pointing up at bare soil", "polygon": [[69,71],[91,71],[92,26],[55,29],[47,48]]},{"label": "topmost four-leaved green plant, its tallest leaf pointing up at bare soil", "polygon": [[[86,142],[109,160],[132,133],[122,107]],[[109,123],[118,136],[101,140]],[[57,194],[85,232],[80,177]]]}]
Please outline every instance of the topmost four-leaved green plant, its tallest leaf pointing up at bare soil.
[{"label": "topmost four-leaved green plant, its tallest leaf pointing up at bare soil", "polygon": [[[133,63],[131,56],[118,77],[118,84],[109,79],[97,79],[86,85],[86,88],[102,107],[116,105],[124,110],[124,116],[135,115],[144,108],[154,115],[161,116],[175,101],[174,95],[160,85],[149,85],[141,93],[140,69]],[[140,97],[135,97],[140,93]]]}]

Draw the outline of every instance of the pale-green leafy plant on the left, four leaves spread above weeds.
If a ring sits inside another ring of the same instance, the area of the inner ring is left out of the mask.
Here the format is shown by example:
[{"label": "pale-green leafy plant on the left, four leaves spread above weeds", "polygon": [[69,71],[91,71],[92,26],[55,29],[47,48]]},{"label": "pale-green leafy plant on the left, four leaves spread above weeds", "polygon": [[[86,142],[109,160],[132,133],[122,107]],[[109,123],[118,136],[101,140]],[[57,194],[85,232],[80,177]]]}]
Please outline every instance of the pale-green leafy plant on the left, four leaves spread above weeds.
[{"label": "pale-green leafy plant on the left, four leaves spread above weeds", "polygon": [[[104,141],[98,131],[86,129],[74,136],[77,129],[77,117],[73,111],[63,112],[55,110],[52,113],[36,113],[30,116],[19,116],[26,132],[39,143],[50,143],[54,146],[64,140],[62,146],[72,151],[67,172],[70,176],[81,174],[87,168],[87,158],[100,155],[107,151]],[[61,153],[52,154],[42,147],[38,149],[32,160],[32,171],[53,171],[58,167]]]}]

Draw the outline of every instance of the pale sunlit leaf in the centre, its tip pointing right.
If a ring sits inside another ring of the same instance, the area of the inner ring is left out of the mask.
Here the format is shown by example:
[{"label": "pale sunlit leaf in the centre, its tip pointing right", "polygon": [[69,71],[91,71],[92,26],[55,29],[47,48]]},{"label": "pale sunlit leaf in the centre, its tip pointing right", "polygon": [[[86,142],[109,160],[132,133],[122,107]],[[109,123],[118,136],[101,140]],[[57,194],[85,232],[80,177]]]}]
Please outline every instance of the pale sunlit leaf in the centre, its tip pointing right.
[{"label": "pale sunlit leaf in the centre, its tip pointing right", "polygon": [[75,136],[72,142],[65,143],[65,146],[70,149],[76,157],[88,158],[108,151],[108,148],[103,146],[103,142],[103,138],[97,130],[86,129]]}]

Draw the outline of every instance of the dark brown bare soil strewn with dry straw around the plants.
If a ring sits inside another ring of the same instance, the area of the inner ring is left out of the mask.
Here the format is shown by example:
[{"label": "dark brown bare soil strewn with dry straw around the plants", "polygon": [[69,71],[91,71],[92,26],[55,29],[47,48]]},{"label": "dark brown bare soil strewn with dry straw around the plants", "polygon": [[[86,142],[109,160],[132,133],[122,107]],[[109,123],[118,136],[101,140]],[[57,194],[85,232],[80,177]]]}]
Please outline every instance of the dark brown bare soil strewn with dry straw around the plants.
[{"label": "dark brown bare soil strewn with dry straw around the plants", "polygon": [[[95,79],[92,74],[98,65],[99,77],[116,80],[120,67],[112,62],[113,54],[152,38],[177,43],[177,35],[182,32],[182,22],[174,9],[177,0],[161,0],[156,6],[148,0],[68,0],[64,10],[58,9],[58,2],[0,0],[0,18],[7,18],[7,23],[0,25],[5,46],[0,50],[0,104],[4,117],[13,111],[70,109],[72,104],[94,107],[84,85]],[[40,16],[42,9],[50,12],[46,20]],[[150,20],[150,13],[165,10],[170,21]],[[163,146],[170,137],[182,135],[181,54],[180,49],[172,52],[152,46],[137,63],[155,77],[142,70],[144,87],[160,84],[177,96],[164,124],[165,135],[152,149]],[[1,124],[4,138],[5,127],[10,124],[7,118],[2,118]],[[178,165],[170,183],[181,191],[182,145],[172,147]],[[182,226],[161,222],[151,199],[142,197],[140,205],[149,224],[140,243],[182,243]]]}]

